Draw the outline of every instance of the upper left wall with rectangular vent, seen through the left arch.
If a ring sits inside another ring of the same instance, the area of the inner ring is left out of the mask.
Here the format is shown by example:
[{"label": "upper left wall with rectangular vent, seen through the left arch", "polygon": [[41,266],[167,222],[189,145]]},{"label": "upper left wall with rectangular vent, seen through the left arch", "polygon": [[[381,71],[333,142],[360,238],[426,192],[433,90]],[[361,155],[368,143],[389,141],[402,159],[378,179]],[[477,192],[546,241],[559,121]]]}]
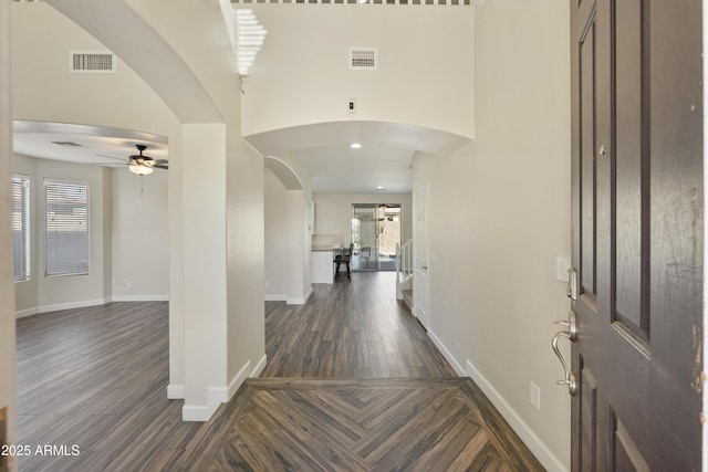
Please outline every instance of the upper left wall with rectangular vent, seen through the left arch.
[{"label": "upper left wall with rectangular vent, seen through the left arch", "polygon": [[[106,50],[46,3],[12,2],[13,119],[134,129],[178,140],[179,122],[123,61],[116,74],[71,74],[69,52]],[[51,77],[51,80],[48,80]]]}]

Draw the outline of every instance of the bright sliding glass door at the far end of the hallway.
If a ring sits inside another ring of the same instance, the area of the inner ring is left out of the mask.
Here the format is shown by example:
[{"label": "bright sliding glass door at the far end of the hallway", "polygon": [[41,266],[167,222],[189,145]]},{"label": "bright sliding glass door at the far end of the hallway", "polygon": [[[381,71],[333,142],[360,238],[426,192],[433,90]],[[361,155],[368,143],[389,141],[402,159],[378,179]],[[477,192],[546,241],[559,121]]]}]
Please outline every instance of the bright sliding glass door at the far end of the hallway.
[{"label": "bright sliding glass door at the far end of the hallway", "polygon": [[353,271],[395,271],[400,203],[352,203]]}]

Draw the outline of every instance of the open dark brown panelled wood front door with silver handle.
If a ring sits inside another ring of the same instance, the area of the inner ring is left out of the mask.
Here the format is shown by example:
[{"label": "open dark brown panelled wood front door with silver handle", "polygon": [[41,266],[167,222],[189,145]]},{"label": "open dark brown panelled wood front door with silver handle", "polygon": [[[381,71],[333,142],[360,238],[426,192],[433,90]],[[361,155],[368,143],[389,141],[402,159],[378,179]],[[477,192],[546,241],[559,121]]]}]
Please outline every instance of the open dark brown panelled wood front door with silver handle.
[{"label": "open dark brown panelled wood front door with silver handle", "polygon": [[571,0],[573,470],[701,466],[698,0]]}]

